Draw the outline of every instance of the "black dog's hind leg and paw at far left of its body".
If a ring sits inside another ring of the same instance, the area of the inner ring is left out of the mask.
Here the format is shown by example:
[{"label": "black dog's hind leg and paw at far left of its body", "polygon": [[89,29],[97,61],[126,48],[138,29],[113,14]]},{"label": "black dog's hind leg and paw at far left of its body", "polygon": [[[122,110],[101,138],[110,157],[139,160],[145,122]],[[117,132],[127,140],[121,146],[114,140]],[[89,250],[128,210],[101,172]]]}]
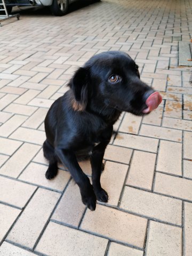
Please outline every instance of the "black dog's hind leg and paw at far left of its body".
[{"label": "black dog's hind leg and paw at far left of its body", "polygon": [[50,145],[50,143],[47,140],[45,140],[45,142],[43,143],[43,154],[44,157],[49,161],[49,167],[45,173],[45,177],[46,179],[51,180],[58,173],[58,161],[54,153],[54,148]]}]

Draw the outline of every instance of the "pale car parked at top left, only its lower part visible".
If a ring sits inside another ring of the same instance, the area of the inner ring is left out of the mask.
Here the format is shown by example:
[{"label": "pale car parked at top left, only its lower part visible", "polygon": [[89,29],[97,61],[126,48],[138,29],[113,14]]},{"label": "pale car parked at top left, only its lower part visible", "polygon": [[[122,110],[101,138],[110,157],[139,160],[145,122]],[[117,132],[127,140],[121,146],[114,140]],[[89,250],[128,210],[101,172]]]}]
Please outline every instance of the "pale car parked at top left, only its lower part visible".
[{"label": "pale car parked at top left, only its lower part visible", "polygon": [[55,16],[62,16],[67,12],[70,3],[77,0],[5,0],[6,8],[11,13],[13,6],[50,6]]}]

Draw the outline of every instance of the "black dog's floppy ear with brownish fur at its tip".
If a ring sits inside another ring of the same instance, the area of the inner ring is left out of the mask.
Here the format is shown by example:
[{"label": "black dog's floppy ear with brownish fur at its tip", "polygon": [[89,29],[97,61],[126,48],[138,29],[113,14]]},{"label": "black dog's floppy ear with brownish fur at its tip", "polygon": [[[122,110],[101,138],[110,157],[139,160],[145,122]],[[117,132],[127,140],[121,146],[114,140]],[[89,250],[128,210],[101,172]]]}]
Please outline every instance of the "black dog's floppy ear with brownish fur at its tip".
[{"label": "black dog's floppy ear with brownish fur at its tip", "polygon": [[74,110],[83,111],[88,98],[88,74],[87,68],[79,68],[71,79],[70,87],[74,92],[72,107]]}]

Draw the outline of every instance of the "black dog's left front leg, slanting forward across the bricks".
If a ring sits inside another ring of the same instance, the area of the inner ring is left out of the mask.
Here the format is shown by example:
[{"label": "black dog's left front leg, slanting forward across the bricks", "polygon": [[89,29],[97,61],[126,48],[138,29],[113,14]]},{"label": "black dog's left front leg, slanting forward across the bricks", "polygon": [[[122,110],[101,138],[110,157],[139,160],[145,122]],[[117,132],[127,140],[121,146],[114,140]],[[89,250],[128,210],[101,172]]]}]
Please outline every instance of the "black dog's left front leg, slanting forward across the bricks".
[{"label": "black dog's left front leg, slanting forward across the bricks", "polygon": [[93,186],[91,185],[89,178],[79,166],[75,154],[71,150],[60,148],[55,148],[55,152],[60,158],[61,162],[68,168],[71,176],[79,186],[82,202],[91,211],[94,211],[97,199],[93,191]]}]

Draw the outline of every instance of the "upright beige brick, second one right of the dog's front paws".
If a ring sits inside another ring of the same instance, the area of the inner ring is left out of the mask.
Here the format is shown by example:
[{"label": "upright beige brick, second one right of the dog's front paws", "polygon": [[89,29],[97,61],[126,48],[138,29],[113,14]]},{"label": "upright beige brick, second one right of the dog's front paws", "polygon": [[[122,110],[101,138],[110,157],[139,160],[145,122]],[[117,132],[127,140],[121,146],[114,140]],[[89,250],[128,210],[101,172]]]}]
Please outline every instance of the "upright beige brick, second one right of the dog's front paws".
[{"label": "upright beige brick, second one right of the dog's front paws", "polygon": [[126,184],[151,190],[155,161],[156,154],[135,150]]}]

